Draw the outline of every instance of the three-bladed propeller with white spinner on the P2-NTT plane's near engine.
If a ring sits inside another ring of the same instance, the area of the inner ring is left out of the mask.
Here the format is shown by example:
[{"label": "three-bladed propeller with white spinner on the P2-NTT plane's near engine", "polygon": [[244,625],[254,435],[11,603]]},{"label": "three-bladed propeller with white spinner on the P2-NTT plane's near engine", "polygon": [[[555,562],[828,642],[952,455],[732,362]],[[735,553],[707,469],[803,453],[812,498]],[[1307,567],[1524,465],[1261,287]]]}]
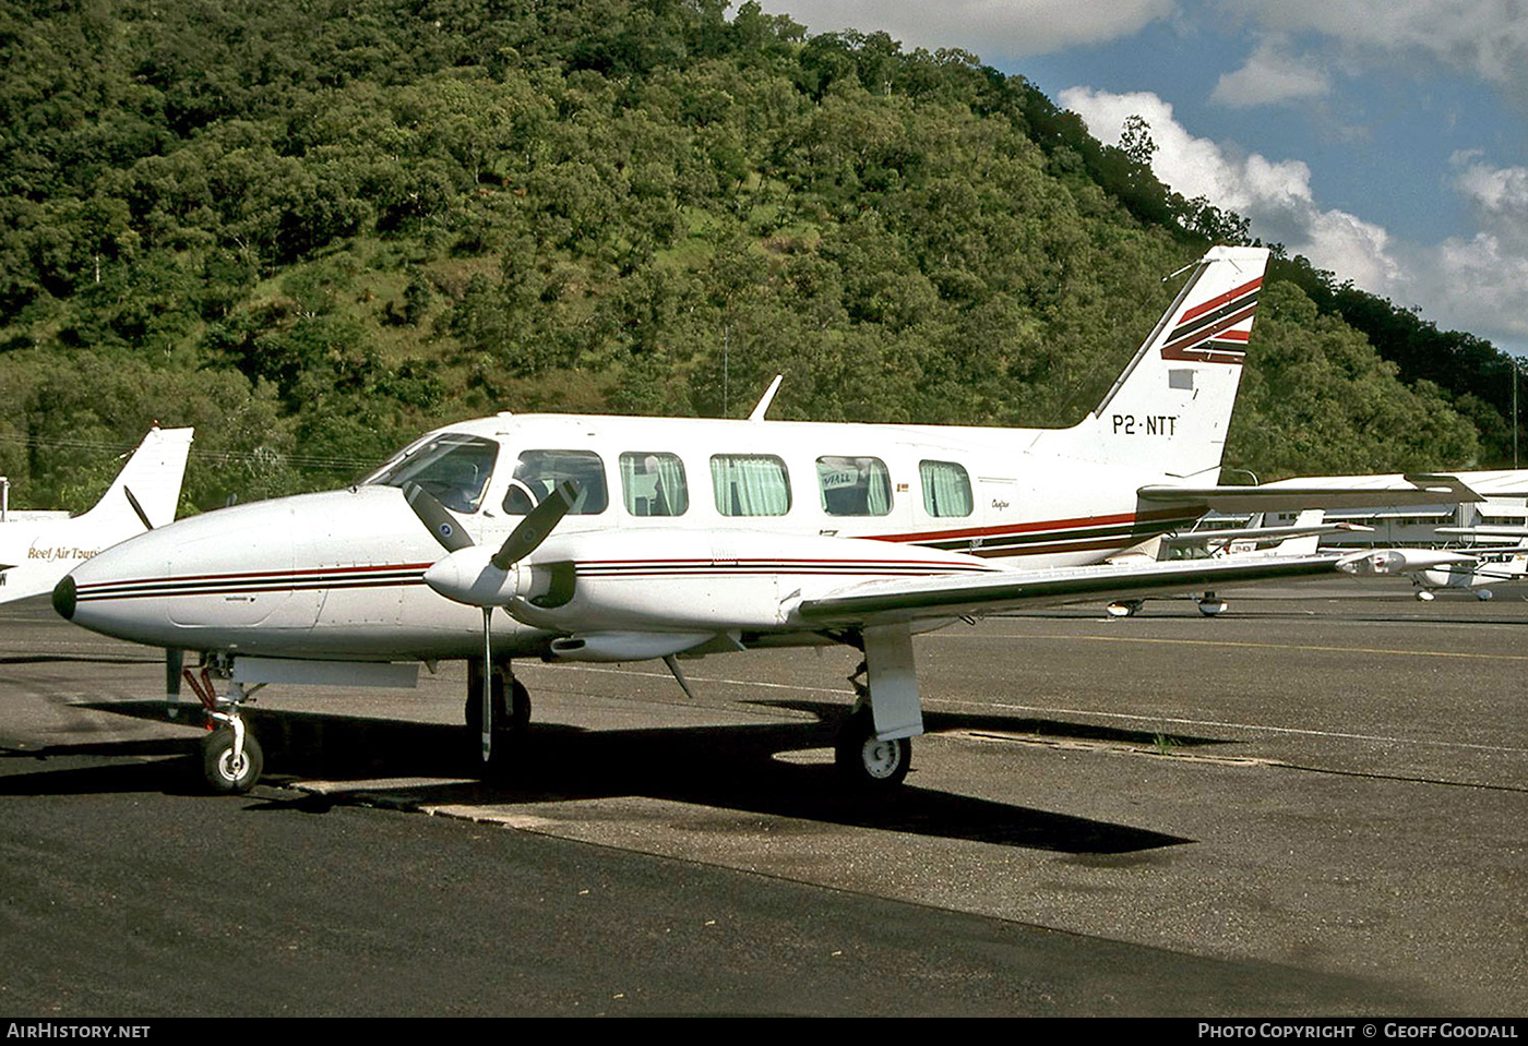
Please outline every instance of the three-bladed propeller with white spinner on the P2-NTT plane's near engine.
[{"label": "three-bladed propeller with white spinner on the P2-NTT plane's near engine", "polygon": [[[504,544],[483,562],[471,534],[440,499],[417,483],[403,484],[403,498],[425,528],[446,550],[445,559],[425,571],[425,582],[448,599],[483,609],[483,762],[494,745],[494,608],[520,596],[520,562],[541,547],[578,502],[581,489],[564,479],[541,504],[526,513]],[[474,550],[474,551],[468,551]],[[529,580],[529,579],[526,579]]]}]

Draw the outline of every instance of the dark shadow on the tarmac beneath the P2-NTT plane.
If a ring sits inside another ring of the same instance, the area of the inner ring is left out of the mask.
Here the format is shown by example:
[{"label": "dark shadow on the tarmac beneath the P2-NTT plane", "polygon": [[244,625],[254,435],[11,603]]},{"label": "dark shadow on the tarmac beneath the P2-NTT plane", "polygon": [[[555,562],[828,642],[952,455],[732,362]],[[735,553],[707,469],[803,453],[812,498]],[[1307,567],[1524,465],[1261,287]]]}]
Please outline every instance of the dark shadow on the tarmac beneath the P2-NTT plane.
[{"label": "dark shadow on the tarmac beneath the P2-NTT plane", "polygon": [[[817,715],[816,724],[735,727],[665,727],[588,731],[533,722],[513,753],[513,770],[494,782],[460,779],[477,773],[477,738],[465,727],[362,719],[327,713],[244,709],[266,754],[266,780],[321,779],[367,782],[364,791],[387,793],[410,806],[516,805],[620,796],[645,796],[741,812],[796,817],[915,835],[963,838],[1063,854],[1134,854],[1193,840],[1128,825],[1053,814],[905,785],[886,797],[847,793],[828,762],[790,762],[782,753],[831,748],[845,713],[831,702],[759,702]],[[83,705],[144,719],[168,719],[163,702]],[[179,722],[196,724],[199,710],[182,705]],[[989,728],[1151,744],[1152,734],[1002,716],[926,713],[931,731]],[[35,773],[12,764],[0,776],[0,794],[67,794],[101,791],[200,791],[194,767],[200,733],[186,739],[53,745],[0,751],[0,759],[38,760]],[[1212,744],[1207,739],[1175,739]],[[81,757],[130,757],[101,765]],[[180,756],[180,759],[154,759]],[[64,762],[64,767],[60,767]],[[52,764],[52,765],[49,765]],[[914,760],[914,771],[917,760]],[[396,783],[390,779],[396,779]],[[362,791],[362,789],[358,789]],[[303,800],[301,809],[322,809]]]}]

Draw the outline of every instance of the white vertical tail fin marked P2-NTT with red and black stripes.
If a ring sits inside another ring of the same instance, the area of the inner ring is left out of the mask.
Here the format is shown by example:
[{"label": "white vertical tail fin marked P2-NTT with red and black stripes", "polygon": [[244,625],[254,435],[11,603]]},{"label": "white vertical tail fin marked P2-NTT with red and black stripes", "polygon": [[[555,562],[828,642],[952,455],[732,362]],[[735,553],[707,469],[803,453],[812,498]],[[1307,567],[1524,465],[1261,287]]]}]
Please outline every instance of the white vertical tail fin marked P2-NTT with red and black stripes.
[{"label": "white vertical tail fin marked P2-NTT with red and black stripes", "polygon": [[1103,461],[1174,476],[1221,464],[1268,252],[1212,247],[1077,428]]}]

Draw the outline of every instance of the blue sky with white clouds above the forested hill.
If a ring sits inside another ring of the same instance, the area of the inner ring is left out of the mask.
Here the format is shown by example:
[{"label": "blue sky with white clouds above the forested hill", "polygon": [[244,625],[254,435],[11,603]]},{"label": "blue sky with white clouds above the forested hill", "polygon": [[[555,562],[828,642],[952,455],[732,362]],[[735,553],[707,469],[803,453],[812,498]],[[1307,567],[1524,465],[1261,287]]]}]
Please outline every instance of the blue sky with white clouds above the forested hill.
[{"label": "blue sky with white clouds above the forested hill", "polygon": [[1528,354],[1528,0],[761,0],[1021,73],[1339,279]]}]

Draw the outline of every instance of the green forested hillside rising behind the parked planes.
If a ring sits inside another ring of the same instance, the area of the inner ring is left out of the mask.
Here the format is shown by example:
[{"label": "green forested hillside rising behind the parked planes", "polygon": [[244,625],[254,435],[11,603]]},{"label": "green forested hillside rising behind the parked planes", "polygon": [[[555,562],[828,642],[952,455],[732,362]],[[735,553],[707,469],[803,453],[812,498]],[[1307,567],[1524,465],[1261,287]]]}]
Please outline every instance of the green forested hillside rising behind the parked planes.
[{"label": "green forested hillside rising behind the parked planes", "polygon": [[[775,417],[1068,425],[1163,276],[1245,235],[1157,183],[1149,128],[1103,148],[972,55],[753,3],[6,0],[0,63],[24,504],[86,504],[151,420],[197,426],[202,508],[497,409],[741,417],[775,373]],[[1274,276],[1227,464],[1500,455],[1340,275]]]}]

